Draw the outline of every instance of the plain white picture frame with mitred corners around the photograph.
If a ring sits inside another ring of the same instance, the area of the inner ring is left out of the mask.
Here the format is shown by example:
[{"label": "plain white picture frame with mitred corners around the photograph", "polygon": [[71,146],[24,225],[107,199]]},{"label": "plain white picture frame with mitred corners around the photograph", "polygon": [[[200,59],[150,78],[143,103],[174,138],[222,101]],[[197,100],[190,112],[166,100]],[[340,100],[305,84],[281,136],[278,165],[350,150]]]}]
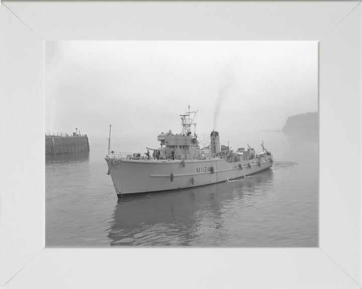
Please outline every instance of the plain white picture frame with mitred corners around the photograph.
[{"label": "plain white picture frame with mitred corners around the photograph", "polygon": [[[4,1],[0,286],[360,288],[361,39],[360,1]],[[319,247],[45,248],[44,44],[50,40],[318,41]]]}]

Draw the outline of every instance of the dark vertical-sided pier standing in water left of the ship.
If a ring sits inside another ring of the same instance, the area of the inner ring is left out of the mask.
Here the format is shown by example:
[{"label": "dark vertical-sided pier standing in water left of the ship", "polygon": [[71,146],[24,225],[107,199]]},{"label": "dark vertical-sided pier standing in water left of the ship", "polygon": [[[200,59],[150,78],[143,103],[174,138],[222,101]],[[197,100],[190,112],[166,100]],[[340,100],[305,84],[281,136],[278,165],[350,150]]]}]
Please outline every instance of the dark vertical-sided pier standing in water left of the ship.
[{"label": "dark vertical-sided pier standing in water left of the ship", "polygon": [[61,155],[78,152],[89,152],[89,141],[86,134],[73,136],[45,136],[45,154]]}]

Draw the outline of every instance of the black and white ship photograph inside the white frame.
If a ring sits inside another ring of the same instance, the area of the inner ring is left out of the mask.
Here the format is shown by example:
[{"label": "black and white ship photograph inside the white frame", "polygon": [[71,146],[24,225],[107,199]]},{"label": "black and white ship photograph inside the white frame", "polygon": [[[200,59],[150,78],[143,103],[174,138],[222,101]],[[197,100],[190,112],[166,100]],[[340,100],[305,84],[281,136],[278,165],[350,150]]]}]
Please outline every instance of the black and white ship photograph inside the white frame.
[{"label": "black and white ship photograph inside the white frame", "polygon": [[47,41],[46,246],[318,247],[316,41]]}]

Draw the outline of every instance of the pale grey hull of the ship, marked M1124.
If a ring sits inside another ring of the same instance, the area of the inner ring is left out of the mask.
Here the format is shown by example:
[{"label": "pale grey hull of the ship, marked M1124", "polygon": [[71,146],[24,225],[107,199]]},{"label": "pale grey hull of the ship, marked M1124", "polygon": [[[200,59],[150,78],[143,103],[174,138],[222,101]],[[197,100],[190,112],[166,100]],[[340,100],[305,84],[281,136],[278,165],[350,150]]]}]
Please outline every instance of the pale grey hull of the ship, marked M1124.
[{"label": "pale grey hull of the ship, marked M1124", "polygon": [[255,174],[273,165],[273,156],[239,162],[223,159],[169,161],[106,158],[118,197],[215,184]]}]

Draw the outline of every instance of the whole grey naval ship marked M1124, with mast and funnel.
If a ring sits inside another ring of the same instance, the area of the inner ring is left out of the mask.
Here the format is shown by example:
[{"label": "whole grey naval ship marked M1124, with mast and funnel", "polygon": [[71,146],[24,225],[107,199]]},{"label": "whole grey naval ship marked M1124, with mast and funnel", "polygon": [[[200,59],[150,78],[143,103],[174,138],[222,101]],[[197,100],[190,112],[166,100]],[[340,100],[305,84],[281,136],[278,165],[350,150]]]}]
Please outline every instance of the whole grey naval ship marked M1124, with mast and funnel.
[{"label": "whole grey naval ship marked M1124, with mast and funnel", "polygon": [[[106,161],[119,198],[137,193],[169,191],[225,182],[268,169],[273,165],[273,155],[263,143],[262,152],[248,149],[236,152],[220,146],[220,135],[210,133],[210,145],[200,149],[196,123],[197,111],[180,114],[182,132],[161,132],[157,139],[160,148],[153,153],[125,154],[110,151],[110,138]],[[194,126],[194,132],[192,131]]]}]

